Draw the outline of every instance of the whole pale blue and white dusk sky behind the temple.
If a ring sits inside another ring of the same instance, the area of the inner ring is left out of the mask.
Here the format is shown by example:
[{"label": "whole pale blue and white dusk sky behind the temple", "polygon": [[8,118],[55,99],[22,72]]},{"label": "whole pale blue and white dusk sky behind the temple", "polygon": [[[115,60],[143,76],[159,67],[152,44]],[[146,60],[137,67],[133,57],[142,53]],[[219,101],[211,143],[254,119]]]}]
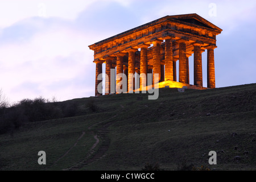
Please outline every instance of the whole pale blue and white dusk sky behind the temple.
[{"label": "whole pale blue and white dusk sky behind the temple", "polygon": [[[216,87],[255,83],[255,0],[9,0],[0,2],[0,89],[9,102],[94,96],[89,45],[166,15],[190,13],[223,30],[214,49]],[[203,86],[206,65],[207,51]]]}]

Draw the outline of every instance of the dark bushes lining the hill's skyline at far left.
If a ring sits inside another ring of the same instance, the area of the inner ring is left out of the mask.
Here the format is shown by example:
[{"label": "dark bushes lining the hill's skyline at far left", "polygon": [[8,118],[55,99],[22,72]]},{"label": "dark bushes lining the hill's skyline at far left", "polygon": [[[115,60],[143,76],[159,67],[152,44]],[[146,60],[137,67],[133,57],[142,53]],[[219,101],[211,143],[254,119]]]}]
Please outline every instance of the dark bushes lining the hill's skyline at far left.
[{"label": "dark bushes lining the hill's skyline at far left", "polygon": [[[26,122],[74,117],[78,113],[76,102],[49,102],[38,97],[23,99],[11,107],[0,107],[0,134],[19,129]],[[94,110],[94,106],[90,107]]]}]

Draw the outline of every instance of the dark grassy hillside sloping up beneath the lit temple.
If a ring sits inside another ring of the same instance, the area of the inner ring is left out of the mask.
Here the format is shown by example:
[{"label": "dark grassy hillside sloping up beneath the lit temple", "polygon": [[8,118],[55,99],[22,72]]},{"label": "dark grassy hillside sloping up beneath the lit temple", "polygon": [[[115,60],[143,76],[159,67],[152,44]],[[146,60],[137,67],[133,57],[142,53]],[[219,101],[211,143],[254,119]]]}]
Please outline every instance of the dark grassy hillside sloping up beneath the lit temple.
[{"label": "dark grassy hillside sloping up beneath the lit temple", "polygon": [[[256,169],[256,84],[77,98],[80,115],[0,135],[1,170]],[[46,151],[46,165],[38,152]],[[217,165],[209,165],[209,151]]]}]

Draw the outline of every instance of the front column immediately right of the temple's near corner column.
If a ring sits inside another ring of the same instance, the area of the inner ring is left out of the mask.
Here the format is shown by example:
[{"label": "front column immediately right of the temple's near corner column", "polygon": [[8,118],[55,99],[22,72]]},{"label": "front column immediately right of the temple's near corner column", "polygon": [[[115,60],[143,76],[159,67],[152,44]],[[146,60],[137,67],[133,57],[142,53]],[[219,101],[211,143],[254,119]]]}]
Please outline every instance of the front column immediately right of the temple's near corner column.
[{"label": "front column immediately right of the temple's near corner column", "polygon": [[187,82],[186,40],[179,40],[179,82]]}]

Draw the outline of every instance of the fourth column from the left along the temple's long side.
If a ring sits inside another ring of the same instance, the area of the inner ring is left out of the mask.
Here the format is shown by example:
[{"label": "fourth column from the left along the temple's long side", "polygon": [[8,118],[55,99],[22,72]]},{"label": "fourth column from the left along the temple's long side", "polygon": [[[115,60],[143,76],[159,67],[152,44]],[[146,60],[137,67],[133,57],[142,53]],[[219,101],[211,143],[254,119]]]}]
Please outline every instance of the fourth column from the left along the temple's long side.
[{"label": "fourth column from the left along the temple's long side", "polygon": [[135,73],[135,52],[137,49],[130,48],[127,50],[129,53],[128,57],[128,92],[131,90],[134,90],[135,86],[135,78],[134,73]]}]

